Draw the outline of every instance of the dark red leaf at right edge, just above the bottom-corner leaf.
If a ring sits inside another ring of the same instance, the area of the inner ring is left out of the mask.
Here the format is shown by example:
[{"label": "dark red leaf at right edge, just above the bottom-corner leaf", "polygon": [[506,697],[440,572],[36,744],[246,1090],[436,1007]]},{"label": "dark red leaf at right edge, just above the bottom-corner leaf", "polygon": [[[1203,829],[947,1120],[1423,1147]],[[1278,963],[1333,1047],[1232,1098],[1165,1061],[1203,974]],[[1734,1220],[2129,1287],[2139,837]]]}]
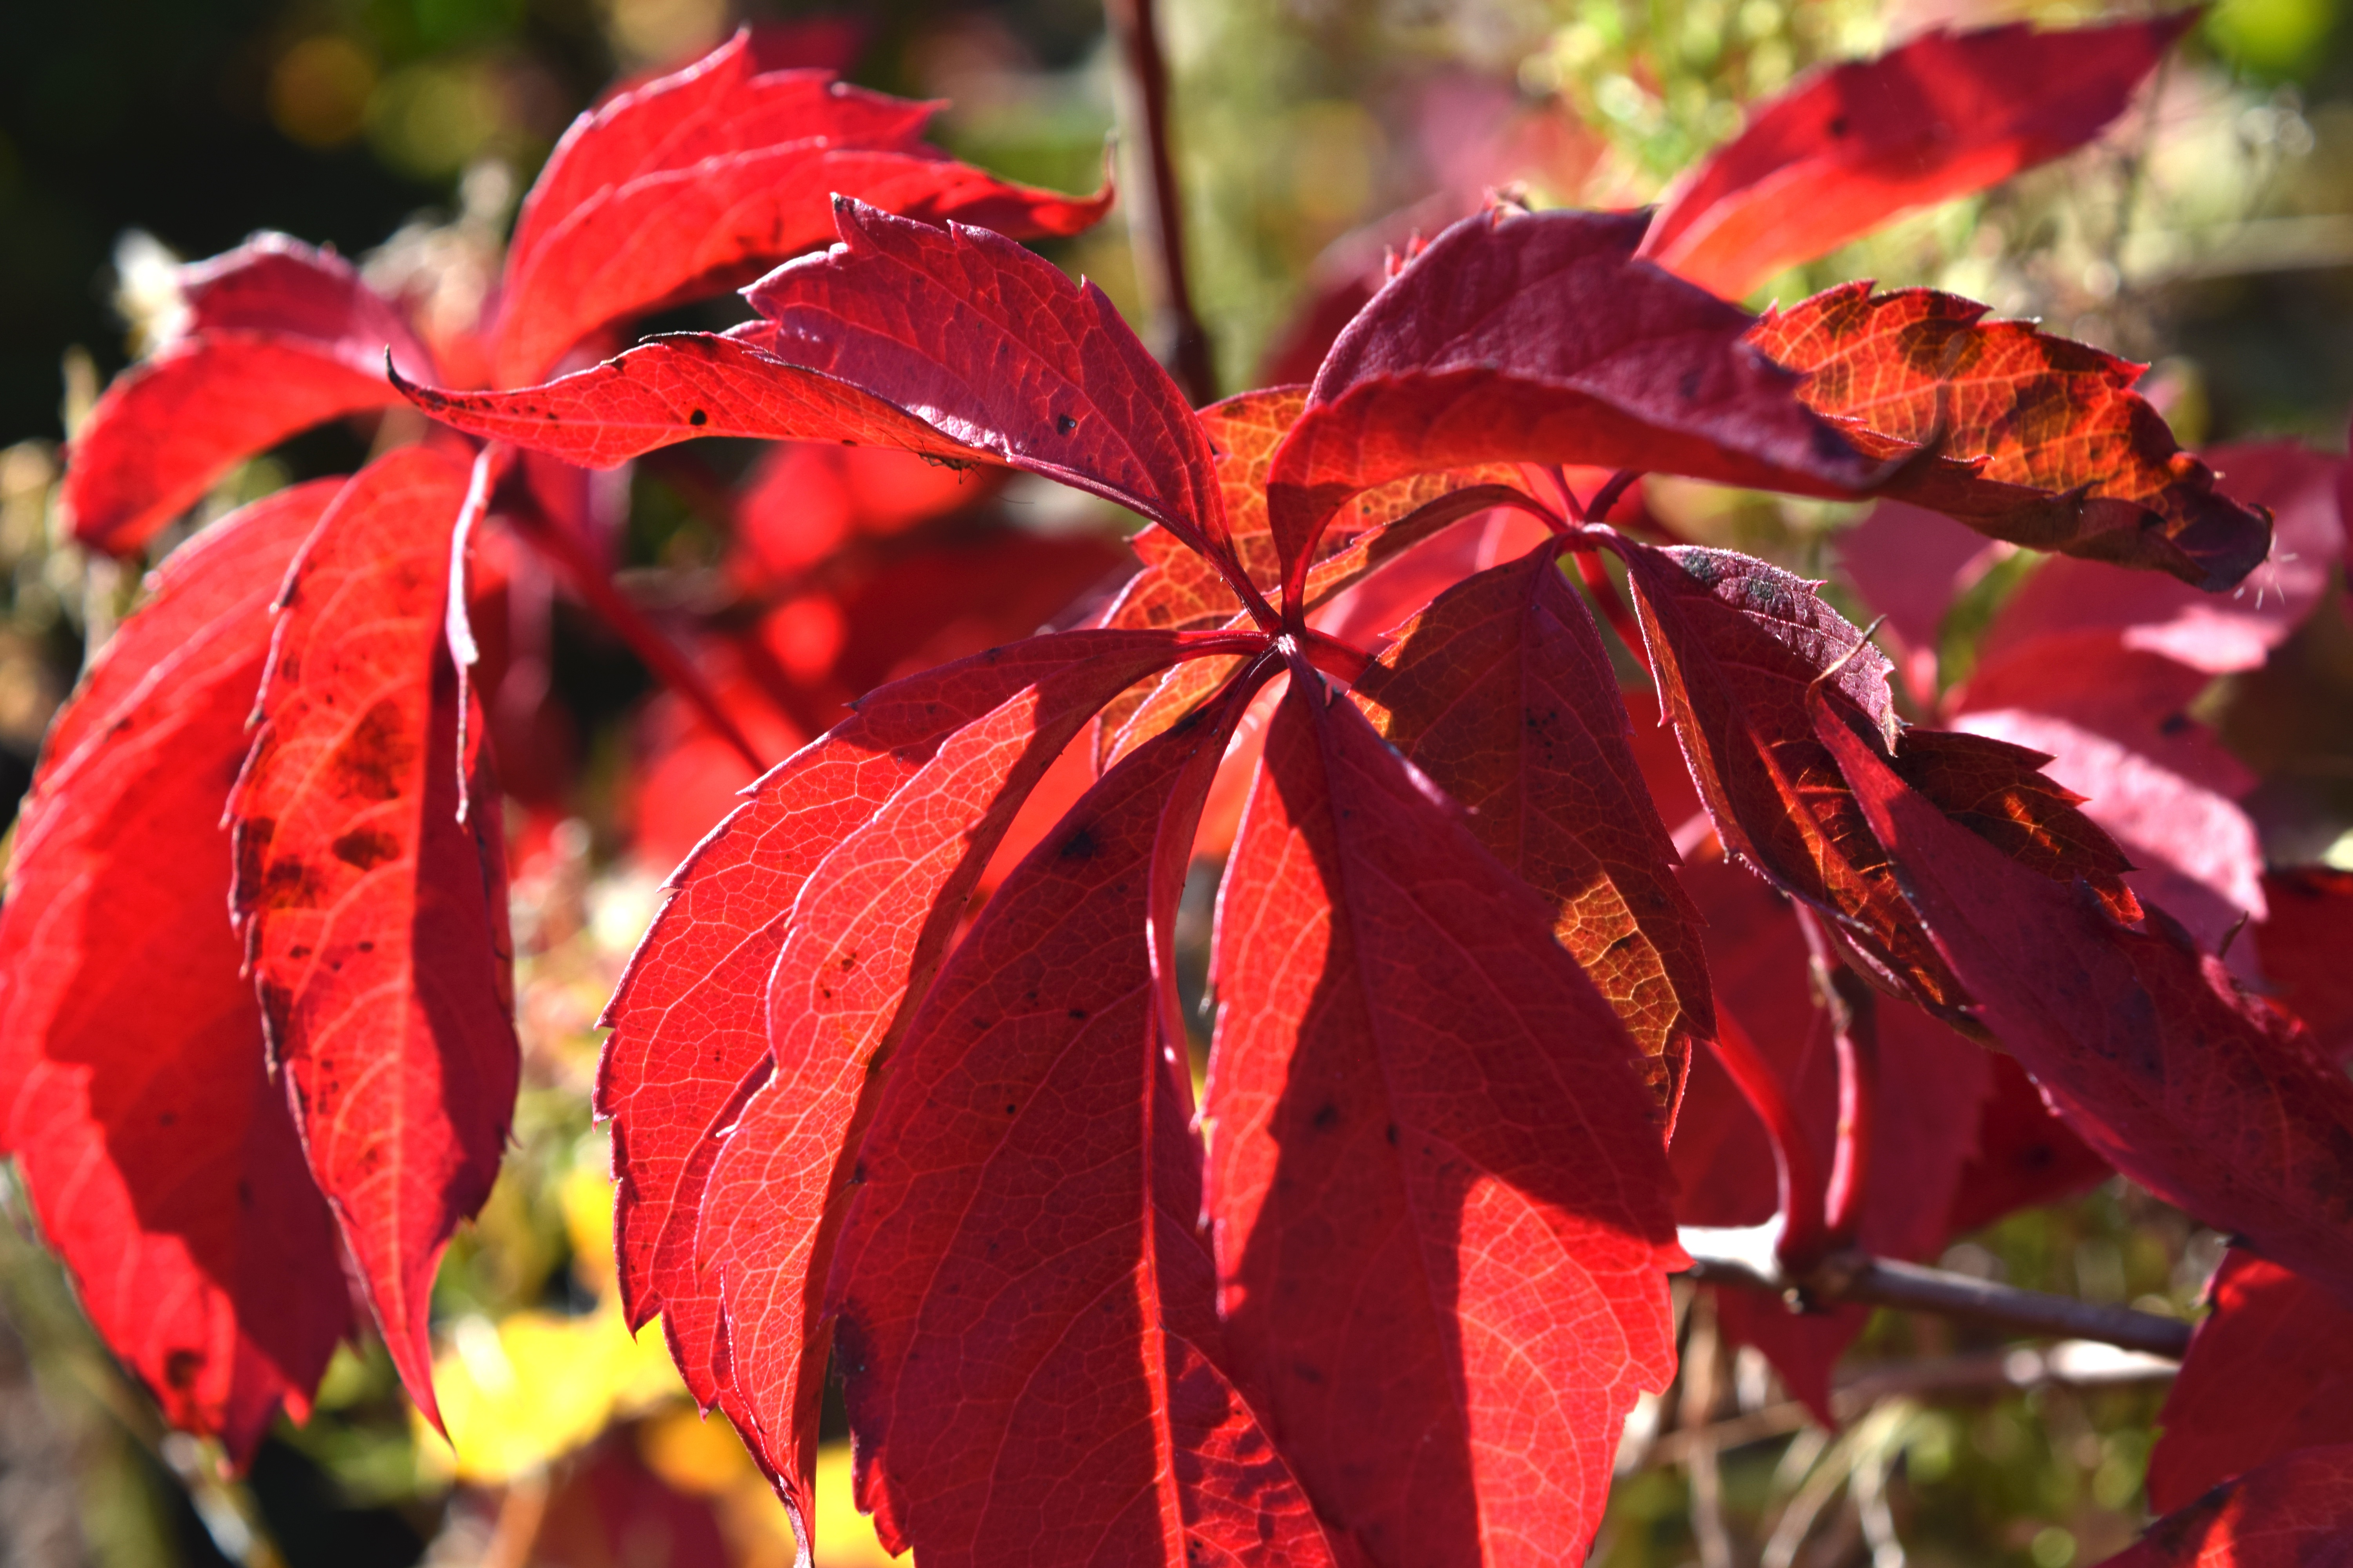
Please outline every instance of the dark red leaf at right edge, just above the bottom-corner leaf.
[{"label": "dark red leaf at right edge, just above the bottom-corner leaf", "polygon": [[2294,1448],[2353,1443],[2353,1307],[2242,1251],[2207,1298],[2148,1455],[2148,1505],[2165,1514]]}]

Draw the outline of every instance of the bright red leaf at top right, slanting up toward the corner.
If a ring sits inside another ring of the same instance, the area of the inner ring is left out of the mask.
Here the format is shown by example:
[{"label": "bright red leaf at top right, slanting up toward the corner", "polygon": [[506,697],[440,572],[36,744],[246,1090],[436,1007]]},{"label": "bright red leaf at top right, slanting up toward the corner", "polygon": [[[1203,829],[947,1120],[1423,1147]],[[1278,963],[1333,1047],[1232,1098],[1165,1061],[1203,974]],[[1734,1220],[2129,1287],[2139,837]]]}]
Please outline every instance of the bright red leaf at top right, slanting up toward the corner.
[{"label": "bright red leaf at top right, slanting up toward the corner", "polygon": [[1925,33],[1831,66],[1675,183],[1642,256],[1739,299],[1913,207],[2009,179],[2125,113],[2195,12],[2038,33]]}]

